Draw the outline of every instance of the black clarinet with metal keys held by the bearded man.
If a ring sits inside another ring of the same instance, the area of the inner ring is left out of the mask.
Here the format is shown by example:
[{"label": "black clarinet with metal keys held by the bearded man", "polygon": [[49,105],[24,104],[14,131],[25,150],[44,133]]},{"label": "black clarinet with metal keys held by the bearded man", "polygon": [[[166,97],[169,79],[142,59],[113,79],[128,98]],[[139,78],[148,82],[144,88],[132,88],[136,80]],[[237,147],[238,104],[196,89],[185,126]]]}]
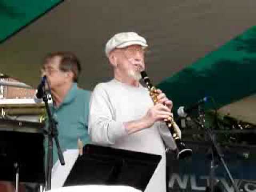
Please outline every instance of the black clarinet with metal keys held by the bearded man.
[{"label": "black clarinet with metal keys held by the bearded man", "polygon": [[[149,91],[149,95],[151,96],[154,105],[156,103],[158,103],[158,99],[157,99],[157,95],[158,93],[155,92],[156,87],[154,87],[151,82],[150,79],[146,73],[146,71],[141,71],[141,77],[143,79],[143,81],[145,82],[148,91]],[[167,127],[169,128],[172,137],[176,143],[177,148],[174,150],[175,154],[177,155],[177,159],[183,159],[186,157],[191,156],[192,154],[192,149],[186,148],[185,143],[183,143],[180,139],[178,130],[179,130],[179,126],[174,122],[173,117],[169,116],[167,119],[165,119],[165,123],[167,125]]]}]

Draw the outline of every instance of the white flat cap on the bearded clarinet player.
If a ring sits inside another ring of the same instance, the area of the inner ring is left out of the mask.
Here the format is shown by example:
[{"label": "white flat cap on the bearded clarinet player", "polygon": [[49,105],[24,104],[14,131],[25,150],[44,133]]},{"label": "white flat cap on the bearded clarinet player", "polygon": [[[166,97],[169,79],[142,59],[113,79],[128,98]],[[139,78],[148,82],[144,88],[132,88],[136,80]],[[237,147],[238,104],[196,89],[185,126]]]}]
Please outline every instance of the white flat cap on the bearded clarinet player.
[{"label": "white flat cap on the bearded clarinet player", "polygon": [[116,48],[124,48],[130,45],[141,45],[147,47],[147,41],[145,38],[139,36],[134,32],[118,33],[110,38],[106,44],[105,52],[108,54]]}]

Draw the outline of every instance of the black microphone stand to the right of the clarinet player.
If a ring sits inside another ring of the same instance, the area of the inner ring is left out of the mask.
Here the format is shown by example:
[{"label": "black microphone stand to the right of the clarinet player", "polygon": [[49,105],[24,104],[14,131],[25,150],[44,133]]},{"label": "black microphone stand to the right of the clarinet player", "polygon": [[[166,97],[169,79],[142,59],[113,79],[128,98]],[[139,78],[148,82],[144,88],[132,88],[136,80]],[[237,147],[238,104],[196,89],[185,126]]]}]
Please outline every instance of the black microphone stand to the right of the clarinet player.
[{"label": "black microphone stand to the right of the clarinet player", "polygon": [[[228,178],[230,179],[230,181],[231,181],[235,191],[239,192],[239,189],[238,189],[238,187],[237,187],[237,185],[236,185],[236,183],[235,183],[231,173],[229,172],[228,167],[227,167],[227,165],[226,165],[226,163],[225,163],[225,161],[223,159],[224,155],[221,153],[220,148],[217,145],[217,142],[215,141],[214,133],[209,128],[207,128],[205,126],[205,113],[204,113],[203,107],[200,106],[200,105],[198,106],[198,114],[199,114],[199,122],[197,122],[197,121],[196,122],[199,124],[199,126],[202,127],[202,129],[205,130],[205,132],[206,132],[206,134],[207,134],[207,136],[208,136],[208,138],[209,138],[209,140],[211,142],[211,166],[210,166],[210,186],[209,186],[210,187],[210,191],[214,192],[214,187],[216,187],[216,186],[214,186],[214,184],[215,184],[214,177],[215,177],[215,168],[216,168],[216,166],[215,166],[215,162],[216,162],[215,158],[217,157],[218,160],[224,166],[224,168],[225,168],[225,170],[226,170],[226,172],[228,174]],[[206,188],[206,190],[207,190],[207,188]]]}]

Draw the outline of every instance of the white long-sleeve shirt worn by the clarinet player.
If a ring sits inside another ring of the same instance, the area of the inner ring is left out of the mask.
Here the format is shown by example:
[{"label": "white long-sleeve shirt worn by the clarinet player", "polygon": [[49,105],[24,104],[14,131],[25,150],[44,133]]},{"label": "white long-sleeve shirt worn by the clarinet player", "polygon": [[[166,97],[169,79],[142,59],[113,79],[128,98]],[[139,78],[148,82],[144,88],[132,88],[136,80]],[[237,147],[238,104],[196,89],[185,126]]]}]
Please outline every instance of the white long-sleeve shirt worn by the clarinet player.
[{"label": "white long-sleeve shirt worn by the clarinet player", "polygon": [[141,151],[162,156],[161,162],[145,191],[165,192],[165,148],[175,148],[174,140],[165,123],[156,122],[148,129],[127,134],[123,122],[146,115],[153,101],[148,90],[111,80],[95,86],[90,100],[89,134],[93,142],[114,148]]}]

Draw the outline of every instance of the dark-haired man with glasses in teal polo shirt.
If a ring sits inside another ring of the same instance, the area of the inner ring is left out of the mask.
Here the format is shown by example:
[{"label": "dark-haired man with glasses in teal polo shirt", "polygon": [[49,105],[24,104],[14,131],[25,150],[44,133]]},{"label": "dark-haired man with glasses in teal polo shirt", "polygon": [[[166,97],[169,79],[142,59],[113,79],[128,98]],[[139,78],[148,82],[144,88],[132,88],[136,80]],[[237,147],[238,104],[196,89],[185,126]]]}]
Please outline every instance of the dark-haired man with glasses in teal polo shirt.
[{"label": "dark-haired man with glasses in teal polo shirt", "polygon": [[[77,149],[78,139],[83,145],[90,142],[87,133],[90,92],[77,87],[81,66],[77,57],[70,52],[48,54],[43,62],[42,75],[46,75],[52,92],[51,111],[58,122],[58,139],[62,152]],[[58,160],[53,142],[53,163]],[[45,139],[47,154],[47,139]],[[46,157],[46,156],[45,156]]]}]

